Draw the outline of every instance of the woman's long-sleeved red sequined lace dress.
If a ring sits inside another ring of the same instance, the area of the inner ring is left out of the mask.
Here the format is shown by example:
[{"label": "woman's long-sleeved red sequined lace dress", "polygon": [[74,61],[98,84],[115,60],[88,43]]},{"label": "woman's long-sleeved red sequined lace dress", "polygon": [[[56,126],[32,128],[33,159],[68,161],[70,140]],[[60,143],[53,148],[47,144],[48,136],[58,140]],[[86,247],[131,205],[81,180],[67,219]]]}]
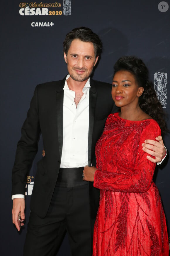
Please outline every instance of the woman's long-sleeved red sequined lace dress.
[{"label": "woman's long-sleeved red sequined lace dress", "polygon": [[155,164],[142,150],[145,139],[161,134],[153,119],[129,121],[110,114],[96,144],[94,187],[100,203],[93,235],[94,256],[169,255]]}]

